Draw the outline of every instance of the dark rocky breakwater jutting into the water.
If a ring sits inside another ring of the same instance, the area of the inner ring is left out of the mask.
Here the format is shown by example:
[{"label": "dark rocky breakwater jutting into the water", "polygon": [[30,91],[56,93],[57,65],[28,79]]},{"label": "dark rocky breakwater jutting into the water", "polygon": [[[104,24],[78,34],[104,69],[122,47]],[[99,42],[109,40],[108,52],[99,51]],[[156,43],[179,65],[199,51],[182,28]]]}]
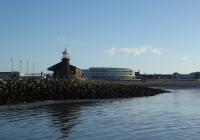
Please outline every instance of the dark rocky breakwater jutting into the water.
[{"label": "dark rocky breakwater jutting into the water", "polygon": [[164,92],[95,80],[1,80],[0,105],[45,100],[131,98]]}]

